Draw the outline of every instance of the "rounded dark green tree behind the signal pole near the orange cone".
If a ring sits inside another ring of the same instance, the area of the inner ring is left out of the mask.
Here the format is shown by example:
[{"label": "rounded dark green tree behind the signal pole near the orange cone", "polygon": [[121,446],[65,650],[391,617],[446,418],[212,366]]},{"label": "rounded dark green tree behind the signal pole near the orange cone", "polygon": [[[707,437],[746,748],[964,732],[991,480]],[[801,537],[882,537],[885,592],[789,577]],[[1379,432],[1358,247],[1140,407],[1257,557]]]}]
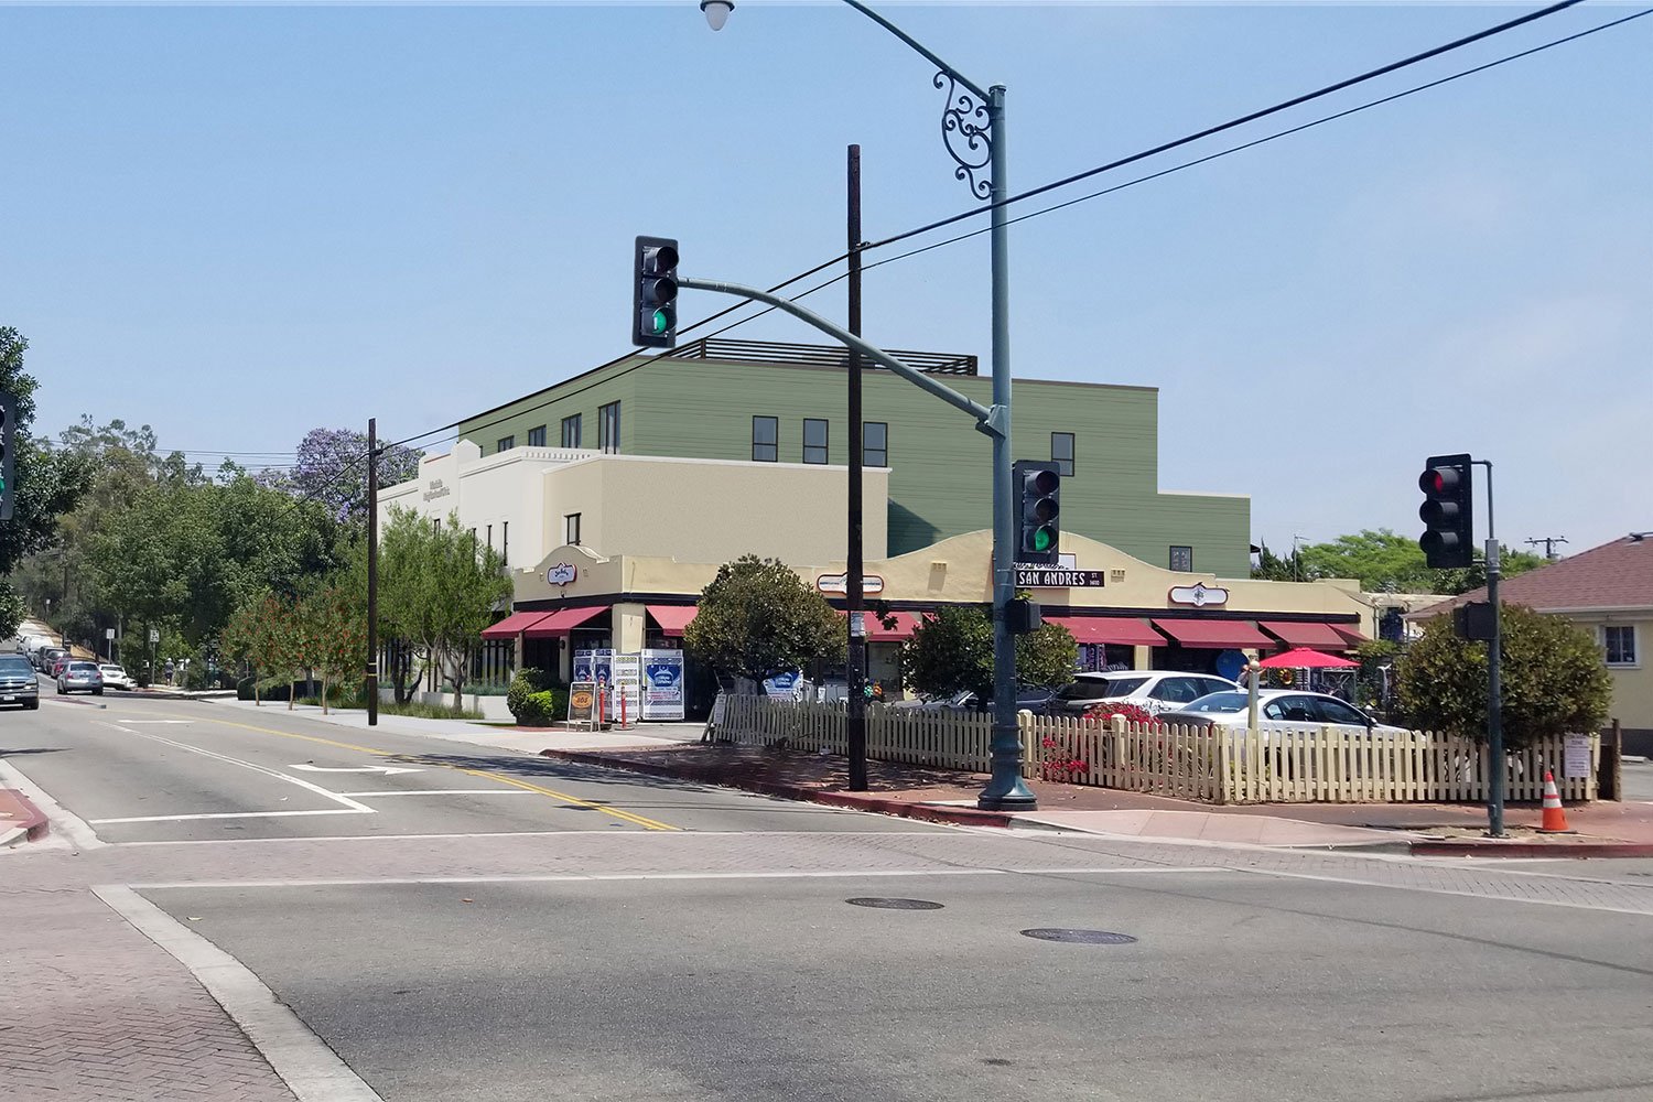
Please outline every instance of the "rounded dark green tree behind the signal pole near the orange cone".
[{"label": "rounded dark green tree behind the signal pole near the orange cone", "polygon": [[[1612,679],[1584,628],[1522,605],[1503,608],[1503,730],[1511,750],[1537,739],[1592,732],[1607,717]],[[1400,705],[1422,730],[1486,737],[1488,648],[1436,616],[1395,661]]]}]

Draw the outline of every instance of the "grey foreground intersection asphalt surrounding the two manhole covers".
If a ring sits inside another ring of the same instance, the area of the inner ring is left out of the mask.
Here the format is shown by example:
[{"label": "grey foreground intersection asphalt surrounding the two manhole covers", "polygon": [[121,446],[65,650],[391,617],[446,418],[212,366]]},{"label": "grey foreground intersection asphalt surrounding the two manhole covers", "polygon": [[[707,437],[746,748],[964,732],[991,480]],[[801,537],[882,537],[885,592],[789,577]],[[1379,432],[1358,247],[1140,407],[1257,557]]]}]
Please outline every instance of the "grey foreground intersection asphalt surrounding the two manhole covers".
[{"label": "grey foreground intersection asphalt surrounding the two manhole covers", "polygon": [[1653,1097],[1645,915],[1238,871],[145,895],[397,1102]]}]

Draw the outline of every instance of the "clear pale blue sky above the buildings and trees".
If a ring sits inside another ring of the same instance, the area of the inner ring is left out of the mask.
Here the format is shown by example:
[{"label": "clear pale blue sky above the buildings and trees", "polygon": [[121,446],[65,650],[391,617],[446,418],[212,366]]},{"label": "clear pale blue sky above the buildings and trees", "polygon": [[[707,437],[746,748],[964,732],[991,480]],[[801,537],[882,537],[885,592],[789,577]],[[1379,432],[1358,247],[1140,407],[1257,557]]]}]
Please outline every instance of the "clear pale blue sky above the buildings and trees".
[{"label": "clear pale blue sky above the buildings and trees", "polygon": [[[1532,8],[881,10],[1008,86],[1025,190]],[[636,233],[765,286],[836,256],[850,142],[868,238],[972,207],[931,69],[836,3],[741,0],[716,35],[693,0],[0,7],[0,324],[31,342],[36,431],[407,436],[625,352]],[[1273,547],[1413,532],[1435,451],[1496,463],[1506,544],[1653,529],[1650,56],[1653,17],[1017,225],[1013,372],[1159,387],[1162,487],[1250,494]],[[869,271],[866,335],[985,363],[987,271],[985,236]],[[841,317],[841,284],[808,302]],[[686,294],[683,319],[726,304]]]}]

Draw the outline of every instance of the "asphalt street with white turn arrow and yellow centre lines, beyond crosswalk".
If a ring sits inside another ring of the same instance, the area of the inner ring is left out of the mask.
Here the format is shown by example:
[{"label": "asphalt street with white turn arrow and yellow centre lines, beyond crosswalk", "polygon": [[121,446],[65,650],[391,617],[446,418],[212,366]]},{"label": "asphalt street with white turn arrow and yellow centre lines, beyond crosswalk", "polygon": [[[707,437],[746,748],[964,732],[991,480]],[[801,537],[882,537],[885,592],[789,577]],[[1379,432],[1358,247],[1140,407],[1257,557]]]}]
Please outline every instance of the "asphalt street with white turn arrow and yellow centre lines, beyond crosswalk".
[{"label": "asphalt street with white turn arrow and yellow centre lines, beyond crosswalk", "polygon": [[210,701],[58,699],[43,691],[40,710],[0,712],[0,755],[109,843],[936,829],[511,750],[359,732],[279,705],[246,712]]}]

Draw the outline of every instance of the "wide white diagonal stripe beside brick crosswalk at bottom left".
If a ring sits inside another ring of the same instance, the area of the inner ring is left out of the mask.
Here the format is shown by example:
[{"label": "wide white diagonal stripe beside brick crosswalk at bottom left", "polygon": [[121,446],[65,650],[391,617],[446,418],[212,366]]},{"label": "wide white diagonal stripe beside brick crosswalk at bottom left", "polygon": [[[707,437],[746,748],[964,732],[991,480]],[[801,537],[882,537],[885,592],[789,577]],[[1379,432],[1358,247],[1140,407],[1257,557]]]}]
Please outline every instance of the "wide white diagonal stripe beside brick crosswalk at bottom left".
[{"label": "wide white diagonal stripe beside brick crosswalk at bottom left", "polygon": [[383,1102],[246,965],[131,887],[102,886],[93,894],[190,970],[299,1102]]}]

